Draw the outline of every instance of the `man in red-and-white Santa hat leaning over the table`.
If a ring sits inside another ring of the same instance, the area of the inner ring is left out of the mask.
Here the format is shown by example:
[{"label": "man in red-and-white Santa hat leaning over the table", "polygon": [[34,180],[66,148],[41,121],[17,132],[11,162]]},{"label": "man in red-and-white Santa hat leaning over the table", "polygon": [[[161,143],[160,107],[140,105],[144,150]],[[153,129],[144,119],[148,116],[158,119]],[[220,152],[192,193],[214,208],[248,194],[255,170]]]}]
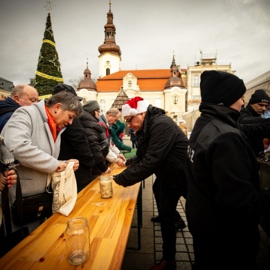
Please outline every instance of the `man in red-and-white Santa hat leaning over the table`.
[{"label": "man in red-and-white Santa hat leaning over the table", "polygon": [[131,165],[115,175],[114,181],[127,187],[156,175],[153,190],[161,222],[163,258],[151,269],[176,269],[175,212],[180,197],[186,198],[188,191],[185,174],[188,138],[163,109],[147,105],[141,97],[127,101],[122,115],[127,127],[136,132],[138,148]]}]

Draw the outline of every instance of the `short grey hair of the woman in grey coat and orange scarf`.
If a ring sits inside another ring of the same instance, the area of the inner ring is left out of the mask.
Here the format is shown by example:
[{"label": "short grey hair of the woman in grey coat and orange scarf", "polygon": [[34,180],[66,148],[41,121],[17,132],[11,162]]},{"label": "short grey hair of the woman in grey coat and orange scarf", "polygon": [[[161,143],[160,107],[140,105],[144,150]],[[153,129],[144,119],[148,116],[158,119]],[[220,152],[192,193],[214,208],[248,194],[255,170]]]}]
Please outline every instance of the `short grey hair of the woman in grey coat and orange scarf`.
[{"label": "short grey hair of the woman in grey coat and orange scarf", "polygon": [[48,108],[57,103],[61,103],[63,111],[76,111],[78,117],[82,115],[82,104],[80,103],[80,100],[77,100],[73,93],[61,91],[45,100],[45,104]]}]

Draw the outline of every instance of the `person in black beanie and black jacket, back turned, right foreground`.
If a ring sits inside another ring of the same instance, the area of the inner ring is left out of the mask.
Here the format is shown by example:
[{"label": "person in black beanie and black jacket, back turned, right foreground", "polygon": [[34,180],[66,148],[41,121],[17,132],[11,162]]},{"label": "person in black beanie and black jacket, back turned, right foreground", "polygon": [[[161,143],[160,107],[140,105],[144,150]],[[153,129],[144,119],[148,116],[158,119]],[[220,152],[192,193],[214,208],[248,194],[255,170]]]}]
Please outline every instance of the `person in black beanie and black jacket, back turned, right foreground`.
[{"label": "person in black beanie and black jacket, back turned, right foreground", "polygon": [[186,157],[192,269],[255,270],[258,222],[270,210],[270,191],[259,187],[256,156],[237,124],[246,87],[222,71],[204,71],[200,87],[201,116]]}]

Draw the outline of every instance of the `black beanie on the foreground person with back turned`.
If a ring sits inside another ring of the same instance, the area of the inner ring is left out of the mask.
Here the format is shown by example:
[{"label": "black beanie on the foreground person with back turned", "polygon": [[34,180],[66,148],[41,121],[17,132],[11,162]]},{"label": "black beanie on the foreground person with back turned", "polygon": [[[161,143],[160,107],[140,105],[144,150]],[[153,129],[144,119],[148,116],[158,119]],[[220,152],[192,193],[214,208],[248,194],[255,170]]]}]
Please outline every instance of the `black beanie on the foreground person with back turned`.
[{"label": "black beanie on the foreground person with back turned", "polygon": [[231,106],[246,92],[243,80],[224,71],[201,73],[201,102]]}]

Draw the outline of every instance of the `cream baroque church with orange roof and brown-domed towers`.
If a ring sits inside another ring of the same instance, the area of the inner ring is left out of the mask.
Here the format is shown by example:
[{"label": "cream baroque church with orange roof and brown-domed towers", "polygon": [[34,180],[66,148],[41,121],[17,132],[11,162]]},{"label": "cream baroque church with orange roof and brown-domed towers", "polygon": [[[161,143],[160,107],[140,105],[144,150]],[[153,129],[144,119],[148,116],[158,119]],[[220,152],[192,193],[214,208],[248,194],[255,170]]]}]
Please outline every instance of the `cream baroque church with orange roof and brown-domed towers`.
[{"label": "cream baroque church with orange roof and brown-domed towers", "polygon": [[[120,69],[121,51],[116,44],[114,15],[107,12],[105,42],[98,47],[99,78],[91,80],[91,71],[84,70],[84,79],[79,83],[77,93],[87,100],[97,100],[100,111],[106,112],[113,105],[118,93],[124,91],[129,98],[141,96],[149,104],[165,109],[168,114],[179,116],[188,110],[186,69],[180,69],[174,56],[170,69]],[[174,117],[175,118],[175,117]]]}]

